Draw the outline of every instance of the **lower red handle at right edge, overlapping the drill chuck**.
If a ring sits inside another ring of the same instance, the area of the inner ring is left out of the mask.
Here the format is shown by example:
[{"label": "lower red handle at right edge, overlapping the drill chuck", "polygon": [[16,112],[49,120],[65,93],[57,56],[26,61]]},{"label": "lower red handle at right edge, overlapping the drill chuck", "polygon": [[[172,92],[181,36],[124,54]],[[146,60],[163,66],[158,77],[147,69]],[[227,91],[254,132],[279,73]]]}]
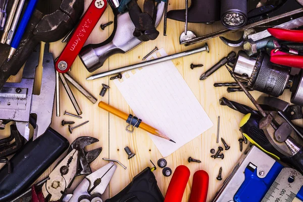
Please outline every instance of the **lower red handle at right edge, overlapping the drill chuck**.
[{"label": "lower red handle at right edge, overlapping the drill chuck", "polygon": [[303,69],[303,56],[289,55],[281,51],[277,51],[275,53],[275,50],[272,50],[270,62],[278,65]]}]

